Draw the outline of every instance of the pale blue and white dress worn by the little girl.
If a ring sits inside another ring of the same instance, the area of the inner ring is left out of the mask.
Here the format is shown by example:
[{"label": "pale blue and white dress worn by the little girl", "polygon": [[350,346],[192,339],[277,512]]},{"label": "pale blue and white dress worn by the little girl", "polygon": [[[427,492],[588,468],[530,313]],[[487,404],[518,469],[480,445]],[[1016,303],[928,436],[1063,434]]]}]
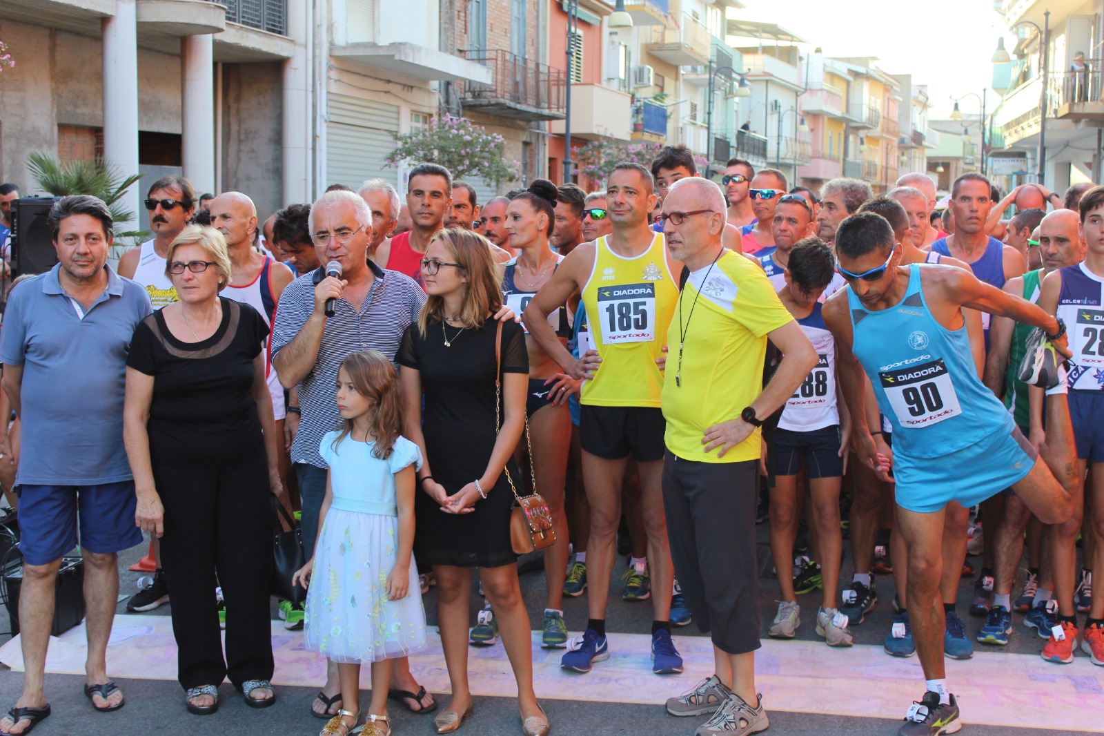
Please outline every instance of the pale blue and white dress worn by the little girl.
[{"label": "pale blue and white dress worn by the little girl", "polygon": [[413,559],[410,593],[388,600],[399,547],[394,474],[421,467],[422,453],[400,437],[391,456],[380,460],[374,443],[348,435],[335,448],[338,435],[329,432],[319,446],[333,501],[315,546],[304,644],[335,662],[406,656],[425,646],[425,609]]}]

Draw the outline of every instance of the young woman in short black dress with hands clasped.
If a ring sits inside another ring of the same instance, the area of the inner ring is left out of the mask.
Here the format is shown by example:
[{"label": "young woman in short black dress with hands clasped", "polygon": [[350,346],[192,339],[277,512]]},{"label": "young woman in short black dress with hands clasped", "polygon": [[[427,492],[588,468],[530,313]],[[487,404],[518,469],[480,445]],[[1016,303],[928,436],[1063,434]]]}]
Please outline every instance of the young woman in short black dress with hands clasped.
[{"label": "young woman in short black dress with hands clasped", "polygon": [[518,682],[522,730],[546,734],[548,717],[533,692],[529,613],[510,546],[513,494],[505,472],[521,485],[512,454],[524,428],[524,334],[516,323],[502,325],[502,402],[496,407],[498,323],[490,315],[502,293],[490,245],[474,232],[445,230],[429,242],[422,275],[428,299],[418,322],[406,328],[396,360],[406,401],[404,434],[424,460],[414,545],[420,564],[432,565],[437,576],[437,622],[453,693],[434,727],[439,734],[456,730],[471,713],[469,568],[478,567]]}]

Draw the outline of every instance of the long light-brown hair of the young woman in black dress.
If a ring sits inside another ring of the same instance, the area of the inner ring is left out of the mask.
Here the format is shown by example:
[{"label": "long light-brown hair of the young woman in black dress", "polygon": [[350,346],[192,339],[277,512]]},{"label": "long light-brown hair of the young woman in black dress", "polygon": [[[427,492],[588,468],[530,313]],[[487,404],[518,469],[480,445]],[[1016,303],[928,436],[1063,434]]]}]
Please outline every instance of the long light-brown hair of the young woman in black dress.
[{"label": "long light-brown hair of the young woman in black dress", "polygon": [[[452,257],[463,266],[468,277],[458,319],[464,327],[478,329],[489,315],[502,306],[502,277],[498,272],[490,241],[463,228],[442,230],[429,242],[437,240],[448,248]],[[444,320],[444,297],[429,295],[417,318],[418,334],[425,337],[431,322]]]}]

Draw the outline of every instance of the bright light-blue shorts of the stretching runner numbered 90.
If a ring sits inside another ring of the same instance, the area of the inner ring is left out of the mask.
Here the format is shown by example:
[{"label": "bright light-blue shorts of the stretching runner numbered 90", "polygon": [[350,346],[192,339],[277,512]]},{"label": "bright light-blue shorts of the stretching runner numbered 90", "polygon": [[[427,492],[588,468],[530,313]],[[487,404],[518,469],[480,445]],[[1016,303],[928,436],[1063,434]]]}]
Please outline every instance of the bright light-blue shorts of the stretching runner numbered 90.
[{"label": "bright light-blue shorts of the stretching runner numbered 90", "polygon": [[969,508],[1022,481],[1036,458],[1034,446],[1015,424],[1010,432],[996,432],[940,458],[898,452],[893,455],[896,504],[919,514],[937,512],[952,501]]}]

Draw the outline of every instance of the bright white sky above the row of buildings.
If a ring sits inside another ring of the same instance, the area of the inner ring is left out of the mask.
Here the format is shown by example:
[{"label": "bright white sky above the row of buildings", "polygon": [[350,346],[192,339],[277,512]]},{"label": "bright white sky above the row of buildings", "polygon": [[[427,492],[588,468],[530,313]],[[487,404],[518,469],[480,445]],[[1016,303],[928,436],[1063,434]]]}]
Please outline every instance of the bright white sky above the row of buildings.
[{"label": "bright white sky above the row of buildings", "polygon": [[[980,94],[992,82],[989,61],[997,36],[1008,34],[989,0],[743,0],[735,17],[777,23],[820,46],[826,56],[877,56],[890,74],[926,84],[933,118],[949,115],[951,95]],[[1009,46],[1010,48],[1010,46]],[[989,112],[999,101],[990,90]],[[974,97],[964,113],[978,112]]]}]

